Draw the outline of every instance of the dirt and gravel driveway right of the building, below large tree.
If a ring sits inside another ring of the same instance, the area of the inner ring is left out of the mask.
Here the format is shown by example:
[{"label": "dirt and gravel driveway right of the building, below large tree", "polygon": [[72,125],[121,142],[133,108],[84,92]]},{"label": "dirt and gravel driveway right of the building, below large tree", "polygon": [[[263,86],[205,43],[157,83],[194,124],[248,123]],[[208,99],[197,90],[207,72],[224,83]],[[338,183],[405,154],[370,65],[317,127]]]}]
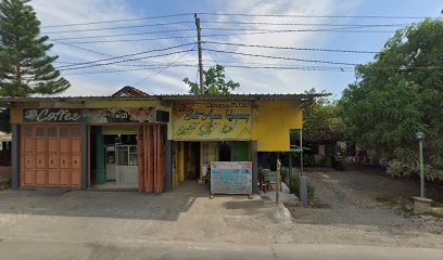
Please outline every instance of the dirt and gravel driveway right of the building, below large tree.
[{"label": "dirt and gravel driveway right of the building, below large tree", "polygon": [[[339,232],[339,227],[366,230],[375,234],[375,239],[377,233],[404,238],[432,234],[440,240],[443,238],[442,219],[413,214],[412,196],[419,191],[414,180],[393,179],[357,165],[349,166],[346,171],[311,169],[306,176],[315,187],[316,198],[309,208],[289,208],[295,223],[336,226],[338,235],[349,239],[353,235]],[[435,187],[429,188],[429,193],[438,192]]]}]

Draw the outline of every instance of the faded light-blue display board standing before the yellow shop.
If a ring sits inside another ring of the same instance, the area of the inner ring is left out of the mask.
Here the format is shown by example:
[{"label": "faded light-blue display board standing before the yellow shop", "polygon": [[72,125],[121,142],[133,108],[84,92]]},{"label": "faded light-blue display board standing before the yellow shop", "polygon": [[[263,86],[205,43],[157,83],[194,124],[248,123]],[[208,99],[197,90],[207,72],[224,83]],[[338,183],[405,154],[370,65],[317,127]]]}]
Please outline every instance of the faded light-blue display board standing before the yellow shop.
[{"label": "faded light-blue display board standing before the yellow shop", "polygon": [[251,161],[212,161],[211,194],[252,194]]}]

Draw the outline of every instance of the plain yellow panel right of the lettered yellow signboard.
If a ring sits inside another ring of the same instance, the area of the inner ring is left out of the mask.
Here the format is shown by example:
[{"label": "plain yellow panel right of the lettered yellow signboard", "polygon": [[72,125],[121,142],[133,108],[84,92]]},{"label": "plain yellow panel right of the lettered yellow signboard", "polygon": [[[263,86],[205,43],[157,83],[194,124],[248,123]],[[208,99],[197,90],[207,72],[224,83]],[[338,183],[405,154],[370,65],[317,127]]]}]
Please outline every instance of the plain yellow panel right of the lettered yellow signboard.
[{"label": "plain yellow panel right of the lettered yellow signboard", "polygon": [[252,140],[258,152],[288,152],[290,129],[303,128],[303,109],[295,101],[263,101],[252,112]]}]

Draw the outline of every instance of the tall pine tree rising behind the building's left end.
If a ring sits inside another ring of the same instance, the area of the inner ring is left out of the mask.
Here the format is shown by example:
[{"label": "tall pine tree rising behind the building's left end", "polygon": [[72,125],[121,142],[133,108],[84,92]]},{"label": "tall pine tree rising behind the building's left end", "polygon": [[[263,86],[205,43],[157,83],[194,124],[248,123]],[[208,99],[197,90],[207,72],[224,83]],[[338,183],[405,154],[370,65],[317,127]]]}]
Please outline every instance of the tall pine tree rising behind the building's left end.
[{"label": "tall pine tree rising behind the building's left end", "polygon": [[29,1],[0,2],[0,96],[55,94],[71,86],[52,66],[59,56],[47,54],[52,44]]}]

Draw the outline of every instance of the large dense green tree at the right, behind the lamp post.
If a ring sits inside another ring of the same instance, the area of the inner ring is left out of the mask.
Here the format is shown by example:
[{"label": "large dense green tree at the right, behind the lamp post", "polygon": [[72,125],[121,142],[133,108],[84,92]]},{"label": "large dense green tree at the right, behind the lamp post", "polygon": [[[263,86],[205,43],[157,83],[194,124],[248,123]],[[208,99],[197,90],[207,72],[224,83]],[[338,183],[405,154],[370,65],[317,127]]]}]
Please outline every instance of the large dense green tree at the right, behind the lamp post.
[{"label": "large dense green tree at the right, behind the lamp post", "polygon": [[[415,132],[423,131],[428,171],[443,169],[442,39],[442,20],[397,30],[372,63],[357,66],[356,82],[343,92],[340,106],[350,134],[391,166],[402,165],[406,155],[409,161],[417,158]],[[410,172],[418,172],[417,164],[410,165]]]}]

